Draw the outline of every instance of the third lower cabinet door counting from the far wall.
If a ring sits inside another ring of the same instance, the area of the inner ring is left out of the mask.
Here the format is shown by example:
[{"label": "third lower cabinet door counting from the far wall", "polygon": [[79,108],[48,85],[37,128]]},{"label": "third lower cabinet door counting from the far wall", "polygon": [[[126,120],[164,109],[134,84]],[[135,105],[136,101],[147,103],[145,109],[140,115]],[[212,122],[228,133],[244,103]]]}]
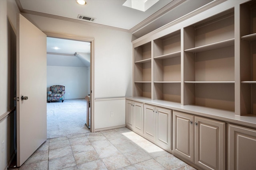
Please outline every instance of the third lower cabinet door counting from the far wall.
[{"label": "third lower cabinet door counting from the far wall", "polygon": [[156,140],[156,107],[144,105],[144,136]]}]

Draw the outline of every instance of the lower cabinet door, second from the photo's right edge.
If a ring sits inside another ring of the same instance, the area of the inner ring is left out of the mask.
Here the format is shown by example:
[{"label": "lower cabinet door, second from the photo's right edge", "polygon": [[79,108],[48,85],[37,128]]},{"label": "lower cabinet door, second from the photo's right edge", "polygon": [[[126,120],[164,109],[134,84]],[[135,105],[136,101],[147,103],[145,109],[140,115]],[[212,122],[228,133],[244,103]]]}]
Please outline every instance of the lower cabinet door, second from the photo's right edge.
[{"label": "lower cabinet door, second from the photo's right edge", "polygon": [[225,123],[195,117],[195,164],[205,170],[225,169]]}]

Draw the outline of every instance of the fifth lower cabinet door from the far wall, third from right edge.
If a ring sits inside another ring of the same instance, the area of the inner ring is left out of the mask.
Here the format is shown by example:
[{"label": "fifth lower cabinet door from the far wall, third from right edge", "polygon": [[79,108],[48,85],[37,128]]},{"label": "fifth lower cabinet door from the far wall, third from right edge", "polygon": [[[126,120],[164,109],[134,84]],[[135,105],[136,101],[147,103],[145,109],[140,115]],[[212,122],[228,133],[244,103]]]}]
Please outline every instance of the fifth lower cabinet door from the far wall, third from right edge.
[{"label": "fifth lower cabinet door from the far wall, third from right edge", "polygon": [[173,111],[173,152],[194,162],[194,116]]}]

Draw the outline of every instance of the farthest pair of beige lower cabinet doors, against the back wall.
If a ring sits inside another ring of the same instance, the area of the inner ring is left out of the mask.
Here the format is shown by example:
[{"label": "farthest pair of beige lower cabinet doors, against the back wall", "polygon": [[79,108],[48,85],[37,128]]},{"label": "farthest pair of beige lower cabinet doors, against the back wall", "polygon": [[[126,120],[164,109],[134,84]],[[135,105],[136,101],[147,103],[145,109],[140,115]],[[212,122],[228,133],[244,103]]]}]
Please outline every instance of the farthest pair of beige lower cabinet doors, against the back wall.
[{"label": "farthest pair of beige lower cabinet doors, against the back wall", "polygon": [[126,100],[126,127],[143,133],[143,103]]}]

